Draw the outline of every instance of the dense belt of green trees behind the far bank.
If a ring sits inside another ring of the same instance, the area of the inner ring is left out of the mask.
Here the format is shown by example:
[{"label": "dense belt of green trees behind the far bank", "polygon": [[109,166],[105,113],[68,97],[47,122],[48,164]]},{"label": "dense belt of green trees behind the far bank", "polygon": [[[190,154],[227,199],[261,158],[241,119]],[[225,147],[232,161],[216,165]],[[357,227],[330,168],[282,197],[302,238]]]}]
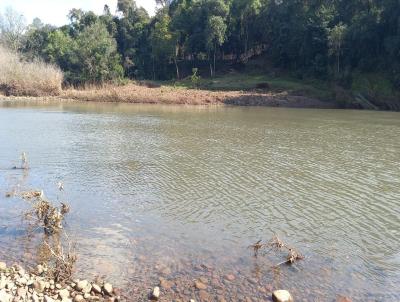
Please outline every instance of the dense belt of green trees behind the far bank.
[{"label": "dense belt of green trees behind the far bank", "polygon": [[[359,74],[379,74],[400,89],[398,0],[157,0],[156,15],[133,0],[100,16],[72,9],[60,28],[27,29],[5,12],[1,39],[27,57],[60,66],[68,83],[122,78],[183,79],[240,70],[255,57],[261,72],[285,70],[350,89]],[[356,83],[355,83],[356,82]],[[374,91],[374,77],[367,84]]]}]

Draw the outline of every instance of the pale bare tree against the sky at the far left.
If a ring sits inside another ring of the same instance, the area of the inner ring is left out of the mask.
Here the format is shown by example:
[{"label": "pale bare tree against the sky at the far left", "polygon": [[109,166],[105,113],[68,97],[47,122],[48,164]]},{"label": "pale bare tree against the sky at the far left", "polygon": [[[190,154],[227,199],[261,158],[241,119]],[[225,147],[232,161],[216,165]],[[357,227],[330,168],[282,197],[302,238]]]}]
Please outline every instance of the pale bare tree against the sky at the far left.
[{"label": "pale bare tree against the sky at the far left", "polygon": [[22,47],[25,31],[26,21],[22,14],[11,7],[0,13],[0,42],[4,46],[16,52]]}]

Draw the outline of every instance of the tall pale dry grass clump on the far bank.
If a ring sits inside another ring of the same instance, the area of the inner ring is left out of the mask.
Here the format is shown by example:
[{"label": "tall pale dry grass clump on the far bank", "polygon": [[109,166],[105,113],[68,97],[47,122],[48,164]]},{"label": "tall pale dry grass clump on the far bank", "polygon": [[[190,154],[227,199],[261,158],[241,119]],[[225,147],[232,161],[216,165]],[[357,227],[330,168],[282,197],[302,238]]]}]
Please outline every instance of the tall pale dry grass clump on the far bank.
[{"label": "tall pale dry grass clump on the far bank", "polygon": [[20,55],[0,46],[0,94],[49,96],[61,93],[63,74],[50,64],[26,62]]}]

